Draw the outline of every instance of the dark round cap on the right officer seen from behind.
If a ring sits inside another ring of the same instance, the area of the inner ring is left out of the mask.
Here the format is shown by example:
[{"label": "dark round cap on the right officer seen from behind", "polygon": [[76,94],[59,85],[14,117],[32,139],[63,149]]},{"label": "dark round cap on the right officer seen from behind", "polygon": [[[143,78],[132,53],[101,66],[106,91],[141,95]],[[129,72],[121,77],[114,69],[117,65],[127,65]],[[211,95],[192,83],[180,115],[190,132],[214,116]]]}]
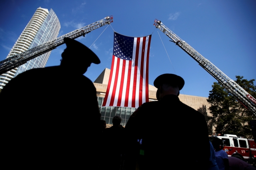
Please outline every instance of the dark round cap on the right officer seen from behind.
[{"label": "dark round cap on the right officer seen from behind", "polygon": [[178,86],[179,90],[181,90],[185,84],[185,81],[182,77],[177,76],[175,74],[162,74],[156,78],[154,81],[154,86],[159,88],[159,86],[163,84],[170,84],[174,86]]}]

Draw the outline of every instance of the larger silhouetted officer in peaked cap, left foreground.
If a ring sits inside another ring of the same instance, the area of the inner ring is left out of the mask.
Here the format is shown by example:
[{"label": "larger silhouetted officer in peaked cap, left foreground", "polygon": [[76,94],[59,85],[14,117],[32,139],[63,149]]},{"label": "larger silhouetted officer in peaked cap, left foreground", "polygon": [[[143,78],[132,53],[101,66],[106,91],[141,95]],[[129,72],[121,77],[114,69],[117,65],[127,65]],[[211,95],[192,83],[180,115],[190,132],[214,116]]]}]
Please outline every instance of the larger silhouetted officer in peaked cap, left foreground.
[{"label": "larger silhouetted officer in peaked cap, left foreground", "polygon": [[21,73],[0,94],[3,154],[10,166],[95,166],[99,109],[96,88],[83,74],[100,60],[78,41],[64,42],[60,66]]}]

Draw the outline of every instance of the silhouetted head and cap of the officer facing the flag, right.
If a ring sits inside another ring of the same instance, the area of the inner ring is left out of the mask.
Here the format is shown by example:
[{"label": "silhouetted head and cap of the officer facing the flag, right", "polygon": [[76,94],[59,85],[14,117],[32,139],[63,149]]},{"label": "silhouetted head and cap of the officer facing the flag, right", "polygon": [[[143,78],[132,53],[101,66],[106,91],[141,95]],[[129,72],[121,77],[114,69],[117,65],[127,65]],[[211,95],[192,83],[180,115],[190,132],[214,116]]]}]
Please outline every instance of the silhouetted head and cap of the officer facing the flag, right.
[{"label": "silhouetted head and cap of the officer facing the flag, right", "polygon": [[180,90],[183,88],[185,81],[182,77],[175,74],[162,74],[154,81],[157,88],[156,98],[161,100],[164,95],[174,94],[179,96]]}]

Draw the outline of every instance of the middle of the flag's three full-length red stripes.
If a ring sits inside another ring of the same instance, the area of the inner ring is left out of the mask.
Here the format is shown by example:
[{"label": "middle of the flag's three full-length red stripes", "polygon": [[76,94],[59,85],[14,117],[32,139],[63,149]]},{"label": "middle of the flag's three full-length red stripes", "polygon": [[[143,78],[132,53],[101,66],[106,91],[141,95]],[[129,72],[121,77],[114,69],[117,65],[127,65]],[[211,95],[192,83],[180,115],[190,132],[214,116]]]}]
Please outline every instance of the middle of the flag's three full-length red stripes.
[{"label": "middle of the flag's three full-length red stripes", "polygon": [[142,87],[143,87],[143,70],[144,70],[144,55],[145,55],[146,37],[143,37],[141,62],[140,62],[140,80],[139,80],[139,106],[142,104]]}]

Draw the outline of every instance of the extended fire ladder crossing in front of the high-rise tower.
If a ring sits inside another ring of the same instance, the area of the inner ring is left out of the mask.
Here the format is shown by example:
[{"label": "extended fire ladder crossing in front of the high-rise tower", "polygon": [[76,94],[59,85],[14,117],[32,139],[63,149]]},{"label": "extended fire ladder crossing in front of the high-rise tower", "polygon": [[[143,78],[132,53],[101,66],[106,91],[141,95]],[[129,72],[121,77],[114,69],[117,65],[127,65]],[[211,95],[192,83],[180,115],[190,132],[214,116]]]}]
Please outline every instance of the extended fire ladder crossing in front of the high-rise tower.
[{"label": "extended fire ladder crossing in front of the high-rise tower", "polygon": [[113,16],[107,16],[95,23],[92,23],[88,26],[85,26],[83,28],[74,30],[68,34],[65,34],[61,37],[58,37],[54,40],[48,41],[46,43],[43,43],[39,46],[36,46],[34,48],[31,48],[23,53],[17,54],[17,55],[13,55],[11,57],[6,58],[3,61],[0,61],[0,75],[12,70],[14,68],[17,68],[23,64],[25,64],[27,61],[42,55],[48,51],[51,51],[53,49],[55,49],[56,47],[64,44],[63,38],[68,37],[71,39],[75,39],[78,38],[80,36],[85,36],[85,34],[90,33],[91,31],[100,28],[104,25],[110,24],[113,22]]}]

